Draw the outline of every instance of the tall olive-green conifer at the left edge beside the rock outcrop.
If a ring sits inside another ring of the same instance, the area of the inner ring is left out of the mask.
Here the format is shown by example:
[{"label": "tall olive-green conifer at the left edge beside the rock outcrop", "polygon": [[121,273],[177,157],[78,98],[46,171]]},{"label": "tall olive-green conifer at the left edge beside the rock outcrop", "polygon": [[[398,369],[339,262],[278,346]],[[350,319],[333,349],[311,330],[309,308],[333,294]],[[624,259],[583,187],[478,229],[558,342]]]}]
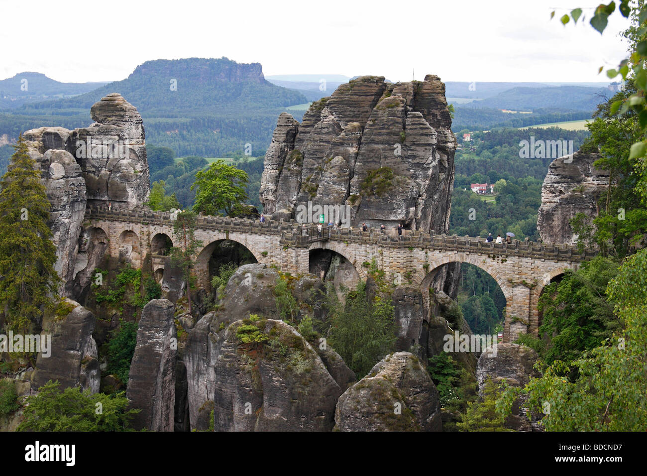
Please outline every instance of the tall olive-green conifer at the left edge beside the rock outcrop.
[{"label": "tall olive-green conifer at the left edge beside the rock outcrop", "polygon": [[58,302],[56,247],[47,226],[50,203],[22,135],[0,181],[0,310],[7,327],[27,332]]}]

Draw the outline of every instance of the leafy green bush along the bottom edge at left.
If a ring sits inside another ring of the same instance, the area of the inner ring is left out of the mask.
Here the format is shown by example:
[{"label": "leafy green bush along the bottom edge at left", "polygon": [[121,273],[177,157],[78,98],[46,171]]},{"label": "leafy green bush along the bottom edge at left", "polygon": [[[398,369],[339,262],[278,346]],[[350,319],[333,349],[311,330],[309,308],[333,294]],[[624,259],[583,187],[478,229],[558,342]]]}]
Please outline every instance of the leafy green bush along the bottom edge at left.
[{"label": "leafy green bush along the bottom edge at left", "polygon": [[51,380],[25,403],[17,431],[132,431],[130,422],[140,411],[128,409],[124,392],[107,396],[79,387],[61,391],[60,383]]}]

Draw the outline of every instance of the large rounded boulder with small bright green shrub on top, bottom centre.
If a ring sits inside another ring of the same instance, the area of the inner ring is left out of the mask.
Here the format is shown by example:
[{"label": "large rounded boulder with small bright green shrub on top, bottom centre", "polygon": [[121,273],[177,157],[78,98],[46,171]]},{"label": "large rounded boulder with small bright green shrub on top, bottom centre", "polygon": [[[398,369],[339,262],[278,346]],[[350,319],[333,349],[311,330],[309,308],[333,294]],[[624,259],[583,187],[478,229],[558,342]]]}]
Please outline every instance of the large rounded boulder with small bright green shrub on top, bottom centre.
[{"label": "large rounded boulder with small bright green shrub on top, bottom centre", "polygon": [[[261,335],[262,342],[246,342]],[[329,431],[342,389],[283,321],[236,321],[215,359],[215,431]]]}]

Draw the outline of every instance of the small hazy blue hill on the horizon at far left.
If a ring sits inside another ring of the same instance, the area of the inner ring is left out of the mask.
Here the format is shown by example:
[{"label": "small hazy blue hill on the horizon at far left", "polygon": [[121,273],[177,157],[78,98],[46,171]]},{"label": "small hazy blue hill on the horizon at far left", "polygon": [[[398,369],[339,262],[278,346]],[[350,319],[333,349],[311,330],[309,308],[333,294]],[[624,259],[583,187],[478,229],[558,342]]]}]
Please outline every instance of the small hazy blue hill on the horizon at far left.
[{"label": "small hazy blue hill on the horizon at far left", "polygon": [[78,96],[107,82],[61,83],[42,73],[25,71],[0,81],[0,109],[15,109],[29,102]]}]

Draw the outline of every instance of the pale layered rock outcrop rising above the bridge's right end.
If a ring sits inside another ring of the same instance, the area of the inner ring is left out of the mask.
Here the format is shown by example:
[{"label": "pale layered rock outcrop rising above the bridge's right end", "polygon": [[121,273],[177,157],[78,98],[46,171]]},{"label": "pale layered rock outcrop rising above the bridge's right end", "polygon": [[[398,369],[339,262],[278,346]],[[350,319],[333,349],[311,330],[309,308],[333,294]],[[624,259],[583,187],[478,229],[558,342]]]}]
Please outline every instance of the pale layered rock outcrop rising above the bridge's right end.
[{"label": "pale layered rock outcrop rising above the bridge's right end", "polygon": [[575,244],[576,234],[569,221],[578,213],[591,218],[598,214],[598,199],[609,186],[609,172],[593,163],[597,153],[576,152],[554,159],[542,185],[542,205],[537,230],[543,242]]}]

